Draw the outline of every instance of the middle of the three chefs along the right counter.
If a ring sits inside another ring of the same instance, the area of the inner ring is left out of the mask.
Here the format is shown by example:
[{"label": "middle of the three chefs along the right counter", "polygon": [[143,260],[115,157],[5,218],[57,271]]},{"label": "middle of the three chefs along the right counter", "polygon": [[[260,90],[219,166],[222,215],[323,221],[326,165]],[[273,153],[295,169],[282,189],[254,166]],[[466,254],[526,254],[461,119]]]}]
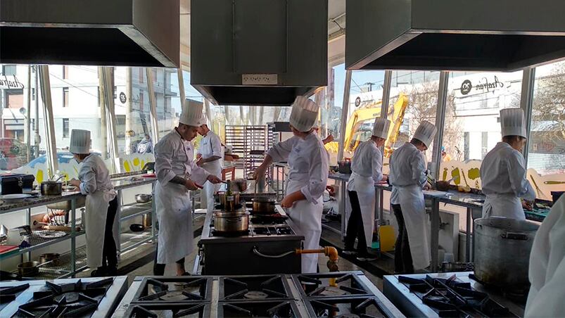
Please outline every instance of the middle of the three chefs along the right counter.
[{"label": "middle of the three chefs along the right counter", "polygon": [[410,142],[391,155],[389,182],[393,186],[391,203],[398,222],[395,246],[395,272],[410,274],[430,265],[430,234],[423,188],[426,182],[426,158],[436,126],[424,120]]}]

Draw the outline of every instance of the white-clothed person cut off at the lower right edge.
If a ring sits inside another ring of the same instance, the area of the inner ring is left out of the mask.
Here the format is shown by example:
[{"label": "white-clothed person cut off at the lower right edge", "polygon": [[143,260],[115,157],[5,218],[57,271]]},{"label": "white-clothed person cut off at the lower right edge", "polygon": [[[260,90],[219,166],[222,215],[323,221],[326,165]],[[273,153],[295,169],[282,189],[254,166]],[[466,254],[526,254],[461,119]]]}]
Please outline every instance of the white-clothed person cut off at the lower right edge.
[{"label": "white-clothed person cut off at the lower right edge", "polygon": [[524,317],[564,317],[565,196],[553,205],[535,234],[529,272],[531,287]]}]

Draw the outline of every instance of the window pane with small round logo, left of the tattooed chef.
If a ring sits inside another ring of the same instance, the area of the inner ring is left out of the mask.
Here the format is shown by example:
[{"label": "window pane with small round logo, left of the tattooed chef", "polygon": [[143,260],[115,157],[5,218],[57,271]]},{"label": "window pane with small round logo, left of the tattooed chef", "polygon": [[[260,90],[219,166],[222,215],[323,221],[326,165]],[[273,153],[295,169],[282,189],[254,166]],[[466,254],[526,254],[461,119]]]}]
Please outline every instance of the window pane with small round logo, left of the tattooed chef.
[{"label": "window pane with small round logo, left of the tattooed chef", "polygon": [[[146,69],[115,68],[114,84],[120,170],[123,172],[138,171],[146,163],[155,160]],[[159,89],[159,87],[154,88]],[[163,91],[162,88],[160,90]]]}]

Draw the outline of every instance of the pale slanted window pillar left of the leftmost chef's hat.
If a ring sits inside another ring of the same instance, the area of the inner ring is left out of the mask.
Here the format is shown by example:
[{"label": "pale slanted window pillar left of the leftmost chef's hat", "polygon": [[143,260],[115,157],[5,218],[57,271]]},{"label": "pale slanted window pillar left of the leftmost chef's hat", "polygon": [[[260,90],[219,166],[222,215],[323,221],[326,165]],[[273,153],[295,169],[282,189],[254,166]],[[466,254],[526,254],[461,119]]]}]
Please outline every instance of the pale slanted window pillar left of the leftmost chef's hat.
[{"label": "pale slanted window pillar left of the leftmost chef's hat", "polygon": [[39,66],[39,83],[42,87],[42,101],[44,113],[44,125],[47,146],[47,163],[51,177],[58,170],[57,147],[55,139],[55,127],[53,125],[53,104],[51,102],[51,82],[49,81],[49,66]]}]

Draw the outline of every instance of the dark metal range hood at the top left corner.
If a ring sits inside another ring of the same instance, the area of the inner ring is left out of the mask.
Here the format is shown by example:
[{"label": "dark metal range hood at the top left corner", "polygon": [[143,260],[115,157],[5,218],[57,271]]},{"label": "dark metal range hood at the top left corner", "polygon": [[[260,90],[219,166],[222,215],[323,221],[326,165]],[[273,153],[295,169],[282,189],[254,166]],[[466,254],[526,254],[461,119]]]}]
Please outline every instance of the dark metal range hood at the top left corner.
[{"label": "dark metal range hood at the top left corner", "polygon": [[179,0],[0,0],[0,62],[179,66]]}]

